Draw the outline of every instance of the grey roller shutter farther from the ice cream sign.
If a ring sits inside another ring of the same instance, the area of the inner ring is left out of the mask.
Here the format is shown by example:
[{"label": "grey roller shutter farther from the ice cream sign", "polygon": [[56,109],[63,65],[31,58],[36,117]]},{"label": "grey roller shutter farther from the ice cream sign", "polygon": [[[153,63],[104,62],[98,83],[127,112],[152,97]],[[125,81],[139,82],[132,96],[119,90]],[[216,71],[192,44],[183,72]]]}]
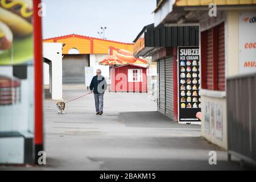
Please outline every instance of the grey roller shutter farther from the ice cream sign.
[{"label": "grey roller shutter farther from the ice cream sign", "polygon": [[159,61],[159,111],[166,114],[165,60]]}]

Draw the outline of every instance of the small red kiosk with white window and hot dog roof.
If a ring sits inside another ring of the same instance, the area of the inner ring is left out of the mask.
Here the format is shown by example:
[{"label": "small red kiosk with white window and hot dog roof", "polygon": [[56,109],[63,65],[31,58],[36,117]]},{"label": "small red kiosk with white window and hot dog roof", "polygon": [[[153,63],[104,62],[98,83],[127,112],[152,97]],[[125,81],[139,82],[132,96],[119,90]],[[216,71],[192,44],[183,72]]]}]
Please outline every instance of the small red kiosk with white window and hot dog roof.
[{"label": "small red kiosk with white window and hot dog roof", "polygon": [[100,64],[112,65],[111,92],[147,92],[147,60],[110,46],[109,56]]}]

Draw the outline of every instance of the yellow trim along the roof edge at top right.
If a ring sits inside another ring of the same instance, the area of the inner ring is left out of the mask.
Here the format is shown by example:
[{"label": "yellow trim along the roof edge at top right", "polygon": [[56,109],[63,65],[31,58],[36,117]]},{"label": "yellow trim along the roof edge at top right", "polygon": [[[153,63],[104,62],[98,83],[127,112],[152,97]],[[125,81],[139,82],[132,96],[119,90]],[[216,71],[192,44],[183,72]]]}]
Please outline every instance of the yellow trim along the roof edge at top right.
[{"label": "yellow trim along the roof edge at top right", "polygon": [[176,6],[208,6],[216,5],[256,5],[256,0],[176,0]]}]

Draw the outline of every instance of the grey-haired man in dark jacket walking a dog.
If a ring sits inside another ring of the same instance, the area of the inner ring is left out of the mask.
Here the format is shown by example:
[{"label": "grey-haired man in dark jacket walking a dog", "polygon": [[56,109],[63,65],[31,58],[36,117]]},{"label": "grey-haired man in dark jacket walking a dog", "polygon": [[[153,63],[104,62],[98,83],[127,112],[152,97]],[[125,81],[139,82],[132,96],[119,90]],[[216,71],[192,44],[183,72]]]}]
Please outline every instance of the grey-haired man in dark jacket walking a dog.
[{"label": "grey-haired man in dark jacket walking a dog", "polygon": [[103,96],[107,84],[104,76],[101,76],[101,70],[97,69],[96,76],[90,82],[90,93],[94,94],[96,114],[103,113]]}]

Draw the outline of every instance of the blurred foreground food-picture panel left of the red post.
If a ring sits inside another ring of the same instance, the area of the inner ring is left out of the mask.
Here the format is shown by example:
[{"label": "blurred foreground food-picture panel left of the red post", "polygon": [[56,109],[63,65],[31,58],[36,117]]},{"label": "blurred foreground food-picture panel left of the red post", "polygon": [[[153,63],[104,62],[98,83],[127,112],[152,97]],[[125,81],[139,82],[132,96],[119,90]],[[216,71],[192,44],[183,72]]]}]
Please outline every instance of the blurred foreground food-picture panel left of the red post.
[{"label": "blurred foreground food-picture panel left of the red post", "polygon": [[0,1],[0,163],[34,163],[33,13],[32,0]]}]

